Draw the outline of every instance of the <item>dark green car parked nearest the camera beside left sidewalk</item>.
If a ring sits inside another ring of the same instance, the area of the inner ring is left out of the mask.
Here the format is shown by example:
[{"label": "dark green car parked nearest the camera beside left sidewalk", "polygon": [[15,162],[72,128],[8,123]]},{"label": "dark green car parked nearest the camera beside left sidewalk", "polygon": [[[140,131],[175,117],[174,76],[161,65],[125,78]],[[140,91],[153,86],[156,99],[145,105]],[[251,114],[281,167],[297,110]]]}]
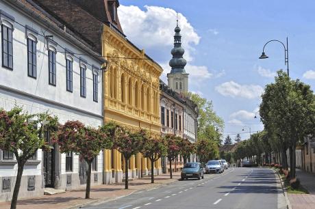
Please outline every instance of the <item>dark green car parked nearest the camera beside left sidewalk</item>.
[{"label": "dark green car parked nearest the camera beside left sidewalk", "polygon": [[181,180],[188,178],[203,178],[204,171],[201,163],[186,163],[181,169]]}]

